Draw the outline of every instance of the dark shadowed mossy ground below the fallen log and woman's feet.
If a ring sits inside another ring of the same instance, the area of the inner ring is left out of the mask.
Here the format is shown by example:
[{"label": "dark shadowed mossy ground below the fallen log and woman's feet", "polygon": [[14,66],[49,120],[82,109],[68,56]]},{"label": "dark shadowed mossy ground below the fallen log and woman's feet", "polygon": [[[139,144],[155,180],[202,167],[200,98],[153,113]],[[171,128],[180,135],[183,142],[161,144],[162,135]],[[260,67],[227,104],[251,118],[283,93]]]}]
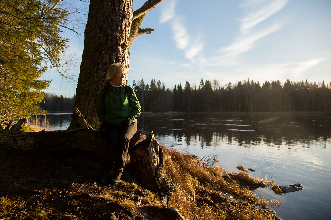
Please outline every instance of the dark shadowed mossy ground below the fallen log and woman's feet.
[{"label": "dark shadowed mossy ground below the fallen log and woman's feet", "polygon": [[99,185],[99,158],[83,152],[1,152],[0,219],[173,219],[130,170],[117,185]]}]

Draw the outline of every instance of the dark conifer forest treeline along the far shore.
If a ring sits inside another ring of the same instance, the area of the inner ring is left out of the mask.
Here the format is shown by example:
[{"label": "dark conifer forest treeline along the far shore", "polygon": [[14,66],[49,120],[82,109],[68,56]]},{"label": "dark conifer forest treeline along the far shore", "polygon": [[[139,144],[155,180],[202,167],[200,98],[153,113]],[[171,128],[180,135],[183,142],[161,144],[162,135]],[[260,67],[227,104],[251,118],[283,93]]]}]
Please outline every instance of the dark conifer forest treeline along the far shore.
[{"label": "dark conifer forest treeline along the far shore", "polygon": [[[244,79],[220,86],[217,80],[201,79],[199,85],[186,81],[184,86],[179,83],[169,89],[161,80],[145,84],[141,79],[137,83],[133,80],[132,87],[142,111],[147,112],[331,111],[331,88],[324,82],[318,85],[287,80],[281,84],[277,80],[260,85]],[[45,93],[39,106],[48,112],[72,112],[75,97]]]}]

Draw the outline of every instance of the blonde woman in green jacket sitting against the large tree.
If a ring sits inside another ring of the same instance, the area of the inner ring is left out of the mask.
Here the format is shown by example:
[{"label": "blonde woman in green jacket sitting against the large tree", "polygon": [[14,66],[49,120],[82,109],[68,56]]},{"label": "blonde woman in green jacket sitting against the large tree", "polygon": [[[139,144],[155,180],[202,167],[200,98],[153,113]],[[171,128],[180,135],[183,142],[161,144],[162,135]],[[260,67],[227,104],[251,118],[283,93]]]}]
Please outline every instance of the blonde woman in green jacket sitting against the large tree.
[{"label": "blonde woman in green jacket sitting against the large tree", "polygon": [[99,91],[97,115],[102,123],[101,129],[105,129],[108,134],[101,161],[99,182],[102,184],[106,182],[113,165],[111,182],[119,182],[125,167],[129,141],[137,132],[137,117],[141,113],[141,108],[133,89],[124,84],[126,74],[124,65],[112,64],[107,73],[105,88]]}]

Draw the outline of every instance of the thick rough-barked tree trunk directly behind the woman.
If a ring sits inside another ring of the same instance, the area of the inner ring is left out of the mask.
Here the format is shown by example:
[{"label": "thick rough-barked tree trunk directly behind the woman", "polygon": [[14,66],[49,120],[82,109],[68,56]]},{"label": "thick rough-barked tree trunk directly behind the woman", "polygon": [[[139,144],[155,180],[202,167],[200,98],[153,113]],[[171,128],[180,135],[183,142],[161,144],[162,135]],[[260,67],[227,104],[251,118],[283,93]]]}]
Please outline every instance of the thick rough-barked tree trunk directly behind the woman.
[{"label": "thick rough-barked tree trunk directly behind the woman", "polygon": [[[75,106],[95,129],[98,91],[103,87],[111,64],[129,66],[132,0],[91,0]],[[126,78],[127,84],[127,78]]]}]

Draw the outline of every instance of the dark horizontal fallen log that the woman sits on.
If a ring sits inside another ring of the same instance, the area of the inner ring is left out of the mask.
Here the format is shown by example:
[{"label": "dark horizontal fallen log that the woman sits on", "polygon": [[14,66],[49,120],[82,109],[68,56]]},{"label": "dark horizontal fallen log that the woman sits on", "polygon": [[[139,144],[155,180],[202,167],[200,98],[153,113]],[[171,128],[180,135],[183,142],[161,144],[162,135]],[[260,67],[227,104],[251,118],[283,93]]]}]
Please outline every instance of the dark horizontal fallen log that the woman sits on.
[{"label": "dark horizontal fallen log that the woman sits on", "polygon": [[[98,130],[93,129],[84,119],[77,108],[71,114],[75,122],[69,130],[22,132],[21,126],[26,119],[21,119],[10,129],[0,130],[0,149],[20,151],[42,151],[48,153],[66,154],[80,150],[87,151],[95,156],[101,157],[104,152],[104,139],[97,139],[95,134]],[[140,140],[137,133],[133,141],[134,145]]]}]

